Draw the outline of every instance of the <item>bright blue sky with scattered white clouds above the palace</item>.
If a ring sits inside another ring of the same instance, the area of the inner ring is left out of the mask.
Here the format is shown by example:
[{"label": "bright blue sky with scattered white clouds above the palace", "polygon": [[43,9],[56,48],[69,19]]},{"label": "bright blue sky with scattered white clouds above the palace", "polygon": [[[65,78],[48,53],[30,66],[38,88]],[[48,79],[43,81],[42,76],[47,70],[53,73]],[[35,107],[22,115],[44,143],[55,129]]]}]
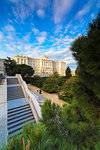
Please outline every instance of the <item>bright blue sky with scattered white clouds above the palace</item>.
[{"label": "bright blue sky with scattered white clouds above the palace", "polygon": [[0,58],[45,53],[75,70],[70,45],[99,8],[100,0],[0,0]]}]

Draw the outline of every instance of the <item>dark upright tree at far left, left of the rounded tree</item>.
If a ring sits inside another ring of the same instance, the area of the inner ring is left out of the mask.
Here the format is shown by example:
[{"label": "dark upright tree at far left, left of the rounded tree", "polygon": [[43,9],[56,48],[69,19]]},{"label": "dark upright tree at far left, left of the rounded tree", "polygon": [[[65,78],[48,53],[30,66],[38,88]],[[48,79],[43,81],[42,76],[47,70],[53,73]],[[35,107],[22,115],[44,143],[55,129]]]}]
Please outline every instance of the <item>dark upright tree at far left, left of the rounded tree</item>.
[{"label": "dark upright tree at far left, left of the rounded tree", "polygon": [[5,59],[4,61],[4,64],[5,64],[6,74],[9,76],[13,75],[13,69],[17,65],[16,61],[14,59],[11,59],[10,57],[7,57],[7,59]]}]

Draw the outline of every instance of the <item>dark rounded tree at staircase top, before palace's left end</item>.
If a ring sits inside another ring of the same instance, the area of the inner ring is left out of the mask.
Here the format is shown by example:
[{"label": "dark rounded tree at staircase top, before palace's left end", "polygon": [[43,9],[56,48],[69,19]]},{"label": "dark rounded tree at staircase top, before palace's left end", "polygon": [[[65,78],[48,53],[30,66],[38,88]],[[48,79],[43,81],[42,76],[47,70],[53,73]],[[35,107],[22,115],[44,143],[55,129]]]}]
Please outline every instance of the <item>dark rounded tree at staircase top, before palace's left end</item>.
[{"label": "dark rounded tree at staircase top, before palace's left end", "polygon": [[13,74],[21,74],[23,79],[25,79],[31,77],[34,74],[34,70],[31,66],[21,64],[14,67]]}]

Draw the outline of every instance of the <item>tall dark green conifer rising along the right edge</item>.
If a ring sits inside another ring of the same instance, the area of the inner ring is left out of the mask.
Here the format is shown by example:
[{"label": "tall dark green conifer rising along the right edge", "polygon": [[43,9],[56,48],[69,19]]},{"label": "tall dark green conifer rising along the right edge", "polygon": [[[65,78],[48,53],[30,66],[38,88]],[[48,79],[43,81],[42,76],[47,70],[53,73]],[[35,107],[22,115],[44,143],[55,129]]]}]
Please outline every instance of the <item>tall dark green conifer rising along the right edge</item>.
[{"label": "tall dark green conifer rising along the right edge", "polygon": [[100,14],[89,23],[87,35],[74,41],[71,51],[79,66],[75,97],[81,111],[95,122],[100,107]]}]

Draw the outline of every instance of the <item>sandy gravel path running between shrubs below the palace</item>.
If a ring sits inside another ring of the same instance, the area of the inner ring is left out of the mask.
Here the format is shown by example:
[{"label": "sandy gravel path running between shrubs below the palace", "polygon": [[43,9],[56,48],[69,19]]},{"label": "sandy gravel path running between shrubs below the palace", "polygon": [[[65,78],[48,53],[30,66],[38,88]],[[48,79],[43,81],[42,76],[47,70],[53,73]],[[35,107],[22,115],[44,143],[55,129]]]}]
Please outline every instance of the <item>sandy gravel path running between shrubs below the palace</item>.
[{"label": "sandy gravel path running between shrubs below the palace", "polygon": [[[30,85],[30,84],[28,84],[28,87],[29,87],[29,88],[31,89],[31,91],[33,91],[36,95],[39,94],[39,92],[38,92],[38,91],[39,91],[39,88],[37,88],[37,87],[35,87],[35,86],[33,86],[33,85]],[[51,100],[52,102],[54,102],[54,103],[56,103],[56,104],[58,104],[58,105],[60,105],[60,106],[62,106],[63,104],[67,104],[66,102],[64,102],[64,101],[62,101],[61,99],[59,99],[57,94],[49,94],[49,93],[44,92],[44,91],[42,90],[42,95],[43,95],[44,100],[49,99],[49,100]]]}]

